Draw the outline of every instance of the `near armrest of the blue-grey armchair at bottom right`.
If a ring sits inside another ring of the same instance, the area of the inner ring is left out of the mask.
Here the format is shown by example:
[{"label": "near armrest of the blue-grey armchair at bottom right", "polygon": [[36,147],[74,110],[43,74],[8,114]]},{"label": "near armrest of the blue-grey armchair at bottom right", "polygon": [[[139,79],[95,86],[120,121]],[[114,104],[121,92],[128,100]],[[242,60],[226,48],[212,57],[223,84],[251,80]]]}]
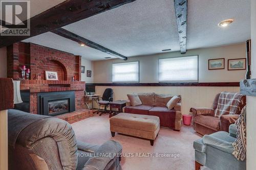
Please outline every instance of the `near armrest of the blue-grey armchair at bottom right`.
[{"label": "near armrest of the blue-grey armchair at bottom right", "polygon": [[202,139],[203,139],[203,142],[206,144],[206,147],[207,145],[210,145],[211,147],[214,147],[223,152],[226,152],[229,154],[233,153],[232,142],[227,142],[225,140],[221,140],[219,138],[216,138],[210,135],[204,135]]}]

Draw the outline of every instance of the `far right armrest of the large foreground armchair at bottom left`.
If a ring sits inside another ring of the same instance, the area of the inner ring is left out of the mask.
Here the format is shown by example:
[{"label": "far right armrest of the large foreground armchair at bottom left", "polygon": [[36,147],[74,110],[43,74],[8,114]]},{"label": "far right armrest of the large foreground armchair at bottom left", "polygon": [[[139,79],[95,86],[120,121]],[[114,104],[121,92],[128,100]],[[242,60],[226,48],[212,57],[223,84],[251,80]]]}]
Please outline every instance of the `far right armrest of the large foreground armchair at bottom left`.
[{"label": "far right armrest of the large foreground armchair at bottom left", "polygon": [[116,163],[115,159],[118,159],[122,153],[122,146],[114,141],[110,140],[103,143],[94,153],[95,157],[90,158],[86,164],[84,164],[82,170],[97,170],[108,169],[113,163]]}]

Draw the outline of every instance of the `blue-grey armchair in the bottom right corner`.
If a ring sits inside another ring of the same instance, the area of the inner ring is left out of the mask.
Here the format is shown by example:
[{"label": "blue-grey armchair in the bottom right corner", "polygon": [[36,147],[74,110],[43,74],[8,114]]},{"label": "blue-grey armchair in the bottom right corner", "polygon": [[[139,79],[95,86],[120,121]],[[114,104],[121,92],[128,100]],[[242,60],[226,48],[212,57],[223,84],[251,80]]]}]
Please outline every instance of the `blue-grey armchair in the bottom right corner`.
[{"label": "blue-grey armchair in the bottom right corner", "polygon": [[195,140],[195,169],[199,170],[201,166],[206,166],[212,170],[246,169],[246,160],[237,160],[232,155],[232,143],[236,140],[236,137],[237,127],[231,124],[229,133],[216,132]]}]

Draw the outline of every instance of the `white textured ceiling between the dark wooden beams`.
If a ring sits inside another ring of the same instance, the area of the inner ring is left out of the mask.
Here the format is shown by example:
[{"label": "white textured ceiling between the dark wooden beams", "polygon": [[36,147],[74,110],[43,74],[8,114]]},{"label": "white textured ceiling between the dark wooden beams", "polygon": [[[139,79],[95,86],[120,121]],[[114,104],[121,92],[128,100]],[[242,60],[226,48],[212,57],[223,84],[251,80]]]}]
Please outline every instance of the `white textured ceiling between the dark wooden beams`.
[{"label": "white textured ceiling between the dark wooden beams", "polygon": [[[227,28],[222,20],[233,18]],[[173,0],[137,0],[63,27],[124,56],[179,51]],[[188,0],[187,49],[245,42],[250,38],[250,0]],[[45,33],[25,40],[101,60],[110,55]],[[113,58],[113,56],[111,56]]]}]

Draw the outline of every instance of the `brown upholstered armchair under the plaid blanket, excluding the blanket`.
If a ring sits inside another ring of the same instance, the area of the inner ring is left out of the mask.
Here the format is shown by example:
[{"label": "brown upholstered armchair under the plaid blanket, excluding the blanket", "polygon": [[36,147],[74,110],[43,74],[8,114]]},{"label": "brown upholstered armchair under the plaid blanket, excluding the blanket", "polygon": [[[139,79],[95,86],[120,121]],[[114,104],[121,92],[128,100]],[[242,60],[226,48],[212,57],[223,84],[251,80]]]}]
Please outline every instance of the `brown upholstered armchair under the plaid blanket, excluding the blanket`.
[{"label": "brown upholstered armchair under the plaid blanket, excluding the blanket", "polygon": [[[208,135],[218,131],[228,132],[229,125],[236,122],[239,117],[240,111],[236,112],[236,114],[222,115],[220,118],[215,117],[219,97],[220,93],[216,95],[212,108],[190,108],[194,129],[201,135]],[[246,105],[246,96],[242,100],[241,110]]]}]

